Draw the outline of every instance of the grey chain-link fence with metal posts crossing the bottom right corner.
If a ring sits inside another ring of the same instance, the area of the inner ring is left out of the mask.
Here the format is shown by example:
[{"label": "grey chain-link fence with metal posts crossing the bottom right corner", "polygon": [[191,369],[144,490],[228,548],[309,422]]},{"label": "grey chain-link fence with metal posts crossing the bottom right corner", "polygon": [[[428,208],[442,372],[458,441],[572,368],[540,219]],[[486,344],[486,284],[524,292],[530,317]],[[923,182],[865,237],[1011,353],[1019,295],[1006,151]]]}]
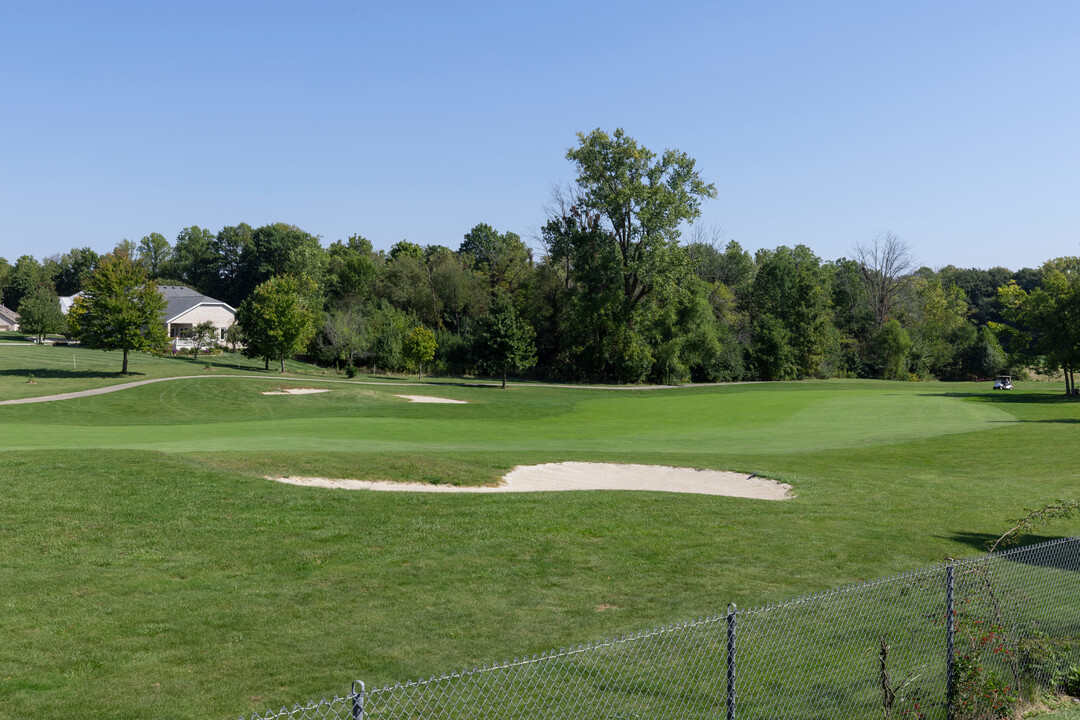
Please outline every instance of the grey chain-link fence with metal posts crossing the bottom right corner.
[{"label": "grey chain-link fence with metal posts crossing the bottom right corner", "polygon": [[963,720],[1074,682],[1080,538],[249,720]]}]

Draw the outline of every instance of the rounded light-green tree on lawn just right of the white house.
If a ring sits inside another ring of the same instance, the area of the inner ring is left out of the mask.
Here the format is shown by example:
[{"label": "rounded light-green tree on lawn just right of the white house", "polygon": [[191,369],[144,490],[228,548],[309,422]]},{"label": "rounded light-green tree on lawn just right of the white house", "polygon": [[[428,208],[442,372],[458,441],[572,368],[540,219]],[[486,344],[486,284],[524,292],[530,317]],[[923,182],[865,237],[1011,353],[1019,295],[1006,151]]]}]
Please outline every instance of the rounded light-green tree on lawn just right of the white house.
[{"label": "rounded light-green tree on lawn just right of the white house", "polygon": [[303,281],[289,275],[271,277],[260,284],[237,309],[247,345],[244,354],[281,363],[300,352],[314,335],[315,313],[310,307],[312,290]]}]

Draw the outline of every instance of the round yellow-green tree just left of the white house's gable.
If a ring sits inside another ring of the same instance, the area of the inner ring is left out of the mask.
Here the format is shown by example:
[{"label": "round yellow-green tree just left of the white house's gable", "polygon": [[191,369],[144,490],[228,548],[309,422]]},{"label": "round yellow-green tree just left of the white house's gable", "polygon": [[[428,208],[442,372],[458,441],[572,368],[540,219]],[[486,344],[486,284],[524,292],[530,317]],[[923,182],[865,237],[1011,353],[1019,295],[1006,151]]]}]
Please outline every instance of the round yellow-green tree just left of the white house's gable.
[{"label": "round yellow-green tree just left of the white house's gable", "polygon": [[165,298],[147,277],[141,264],[124,253],[103,257],[76,299],[69,326],[93,350],[123,351],[121,372],[127,375],[127,354],[163,348],[168,338],[162,316]]}]

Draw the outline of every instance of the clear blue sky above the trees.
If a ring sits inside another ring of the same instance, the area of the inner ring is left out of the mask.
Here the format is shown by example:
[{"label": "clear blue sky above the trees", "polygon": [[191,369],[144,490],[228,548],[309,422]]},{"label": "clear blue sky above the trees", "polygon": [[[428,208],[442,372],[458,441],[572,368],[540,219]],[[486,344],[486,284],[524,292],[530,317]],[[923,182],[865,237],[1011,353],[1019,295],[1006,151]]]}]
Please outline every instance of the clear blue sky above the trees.
[{"label": "clear blue sky above the trees", "polygon": [[285,221],[526,240],[575,133],[716,184],[748,249],[1080,255],[1080,3],[0,0],[0,255]]}]

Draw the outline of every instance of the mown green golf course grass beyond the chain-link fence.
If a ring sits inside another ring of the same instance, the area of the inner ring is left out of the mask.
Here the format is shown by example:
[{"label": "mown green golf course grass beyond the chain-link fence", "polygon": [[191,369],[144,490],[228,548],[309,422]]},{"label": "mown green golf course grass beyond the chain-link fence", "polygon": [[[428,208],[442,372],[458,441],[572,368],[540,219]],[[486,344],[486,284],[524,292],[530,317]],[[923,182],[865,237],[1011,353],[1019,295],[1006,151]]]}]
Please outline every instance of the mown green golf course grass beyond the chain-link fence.
[{"label": "mown green golf course grass beyond the chain-link fence", "polygon": [[[1080,476],[1080,403],[1041,383],[379,388],[233,355],[136,355],[119,378],[116,354],[0,351],[0,399],[206,376],[0,407],[0,718],[235,718],[758,606],[974,555]],[[262,394],[279,386],[330,392]],[[568,460],[758,473],[795,497],[264,477],[477,485]]]}]

